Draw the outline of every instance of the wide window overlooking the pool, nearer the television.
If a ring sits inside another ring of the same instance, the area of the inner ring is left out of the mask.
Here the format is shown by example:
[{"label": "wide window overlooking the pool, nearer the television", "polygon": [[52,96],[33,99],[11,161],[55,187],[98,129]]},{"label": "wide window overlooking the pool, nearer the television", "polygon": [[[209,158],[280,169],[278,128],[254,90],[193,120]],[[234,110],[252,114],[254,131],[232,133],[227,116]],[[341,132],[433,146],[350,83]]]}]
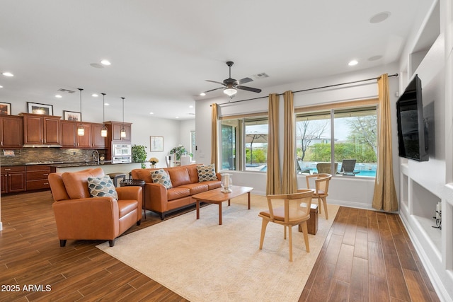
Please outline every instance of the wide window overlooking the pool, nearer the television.
[{"label": "wide window overlooking the pool, nearer the television", "polygon": [[[299,112],[297,173],[376,176],[377,105]],[[343,160],[355,160],[344,173]]]}]

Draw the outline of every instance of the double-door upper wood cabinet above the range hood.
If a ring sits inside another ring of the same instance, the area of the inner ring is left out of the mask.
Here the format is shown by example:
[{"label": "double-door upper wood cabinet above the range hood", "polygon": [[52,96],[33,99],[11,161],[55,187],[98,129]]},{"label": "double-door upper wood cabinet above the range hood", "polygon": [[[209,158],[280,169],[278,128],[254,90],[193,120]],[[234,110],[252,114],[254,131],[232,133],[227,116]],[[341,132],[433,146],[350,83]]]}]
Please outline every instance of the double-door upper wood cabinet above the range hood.
[{"label": "double-door upper wood cabinet above the range hood", "polygon": [[34,115],[21,113],[23,116],[24,145],[59,145],[61,117],[54,115]]}]

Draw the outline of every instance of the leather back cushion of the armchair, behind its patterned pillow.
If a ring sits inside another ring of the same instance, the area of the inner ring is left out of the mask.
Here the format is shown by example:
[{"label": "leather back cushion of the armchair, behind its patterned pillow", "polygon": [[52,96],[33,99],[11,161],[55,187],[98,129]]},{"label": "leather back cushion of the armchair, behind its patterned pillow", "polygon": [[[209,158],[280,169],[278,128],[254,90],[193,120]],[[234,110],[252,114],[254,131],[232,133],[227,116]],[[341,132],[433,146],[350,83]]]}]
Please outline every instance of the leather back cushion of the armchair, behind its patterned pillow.
[{"label": "leather back cushion of the armchair, behind its patterned pillow", "polygon": [[104,176],[102,168],[83,170],[80,172],[65,172],[62,174],[62,180],[69,198],[89,198],[88,177],[101,178]]}]

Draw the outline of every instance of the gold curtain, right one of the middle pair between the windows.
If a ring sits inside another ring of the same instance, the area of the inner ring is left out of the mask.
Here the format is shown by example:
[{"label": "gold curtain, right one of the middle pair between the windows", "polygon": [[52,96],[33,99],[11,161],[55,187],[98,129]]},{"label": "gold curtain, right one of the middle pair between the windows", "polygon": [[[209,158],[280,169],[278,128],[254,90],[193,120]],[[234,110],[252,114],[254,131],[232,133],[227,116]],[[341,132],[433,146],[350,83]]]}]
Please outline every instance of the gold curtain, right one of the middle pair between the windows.
[{"label": "gold curtain, right one of the middle pair between the windows", "polygon": [[295,117],[294,117],[294,98],[292,91],[286,91],[283,95],[285,101],[284,117],[284,153],[283,153],[283,174],[282,174],[282,193],[291,194],[297,192],[296,178],[296,136],[295,136]]}]

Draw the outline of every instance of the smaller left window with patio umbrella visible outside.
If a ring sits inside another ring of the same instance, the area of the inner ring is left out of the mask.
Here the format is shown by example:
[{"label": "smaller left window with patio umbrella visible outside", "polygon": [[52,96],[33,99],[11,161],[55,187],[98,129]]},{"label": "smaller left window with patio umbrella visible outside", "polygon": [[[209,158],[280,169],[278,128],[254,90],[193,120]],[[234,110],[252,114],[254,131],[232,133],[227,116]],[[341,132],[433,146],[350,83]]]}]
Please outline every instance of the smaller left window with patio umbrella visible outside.
[{"label": "smaller left window with patio umbrella visible outside", "polygon": [[268,117],[222,119],[222,170],[265,172],[268,161]]}]

